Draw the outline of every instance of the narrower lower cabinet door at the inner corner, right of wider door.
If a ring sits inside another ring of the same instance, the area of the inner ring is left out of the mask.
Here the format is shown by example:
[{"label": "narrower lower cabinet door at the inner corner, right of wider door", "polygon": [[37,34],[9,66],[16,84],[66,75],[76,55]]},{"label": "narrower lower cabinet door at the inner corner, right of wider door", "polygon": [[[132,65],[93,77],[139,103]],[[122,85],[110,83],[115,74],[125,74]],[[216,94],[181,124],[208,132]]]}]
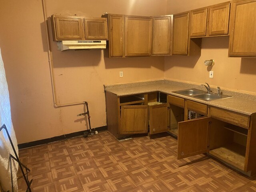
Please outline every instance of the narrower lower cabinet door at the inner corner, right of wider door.
[{"label": "narrower lower cabinet door at the inner corner, right of wider door", "polygon": [[160,105],[151,105],[149,108],[149,133],[156,134],[168,131],[167,118],[167,103]]}]

